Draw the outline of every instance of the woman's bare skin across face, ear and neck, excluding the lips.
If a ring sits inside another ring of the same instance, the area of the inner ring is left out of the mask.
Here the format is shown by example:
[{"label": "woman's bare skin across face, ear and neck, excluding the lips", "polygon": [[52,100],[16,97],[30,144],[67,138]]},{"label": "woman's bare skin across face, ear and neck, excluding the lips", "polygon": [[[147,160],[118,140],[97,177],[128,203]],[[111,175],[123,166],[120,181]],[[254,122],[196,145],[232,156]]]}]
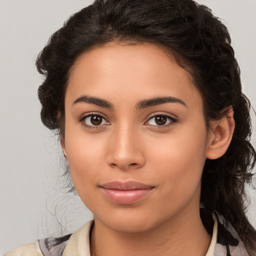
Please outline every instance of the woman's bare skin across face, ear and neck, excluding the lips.
[{"label": "woman's bare skin across face, ear and neck, excluding the lips", "polygon": [[[175,102],[141,104],[155,97]],[[102,119],[93,125],[91,115]],[[201,174],[206,157],[226,150],[229,119],[207,131],[190,75],[159,46],[109,43],[80,55],[67,83],[61,144],[75,189],[94,215],[91,255],[205,255]],[[116,203],[101,187],[116,180],[152,189]]]}]

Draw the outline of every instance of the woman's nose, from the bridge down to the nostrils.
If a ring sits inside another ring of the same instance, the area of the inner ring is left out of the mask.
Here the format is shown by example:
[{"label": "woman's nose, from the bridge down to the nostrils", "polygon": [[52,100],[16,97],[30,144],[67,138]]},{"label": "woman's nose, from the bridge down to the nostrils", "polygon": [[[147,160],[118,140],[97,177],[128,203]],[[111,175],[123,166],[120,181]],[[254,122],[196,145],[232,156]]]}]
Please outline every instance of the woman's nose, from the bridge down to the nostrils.
[{"label": "woman's nose, from the bridge down to the nostrils", "polygon": [[137,169],[145,164],[142,141],[133,128],[119,128],[109,139],[107,163],[121,170]]}]

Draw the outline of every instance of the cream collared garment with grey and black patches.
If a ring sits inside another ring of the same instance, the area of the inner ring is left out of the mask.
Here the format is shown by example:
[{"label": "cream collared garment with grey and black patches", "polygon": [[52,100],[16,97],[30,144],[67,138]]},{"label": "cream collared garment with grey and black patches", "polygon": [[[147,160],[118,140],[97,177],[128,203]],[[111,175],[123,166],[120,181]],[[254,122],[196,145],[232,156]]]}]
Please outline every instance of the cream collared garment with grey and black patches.
[{"label": "cream collared garment with grey and black patches", "polygon": [[[207,214],[201,215],[202,222],[207,230],[209,228],[212,230],[212,238],[205,256],[248,256],[242,241],[230,223],[215,212],[212,213],[213,221],[206,216]],[[210,222],[213,222],[213,228],[212,225],[210,227]],[[89,239],[92,227],[93,220],[73,234],[28,243],[4,256],[90,256]]]}]

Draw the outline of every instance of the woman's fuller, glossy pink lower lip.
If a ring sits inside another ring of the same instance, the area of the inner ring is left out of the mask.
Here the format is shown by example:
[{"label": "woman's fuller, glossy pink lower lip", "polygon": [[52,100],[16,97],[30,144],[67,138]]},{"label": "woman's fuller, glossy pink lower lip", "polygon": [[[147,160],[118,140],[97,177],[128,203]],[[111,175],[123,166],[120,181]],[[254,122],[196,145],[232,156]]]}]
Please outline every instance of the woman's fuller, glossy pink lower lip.
[{"label": "woman's fuller, glossy pink lower lip", "polygon": [[152,189],[117,190],[102,187],[103,193],[113,202],[131,204],[144,198]]}]

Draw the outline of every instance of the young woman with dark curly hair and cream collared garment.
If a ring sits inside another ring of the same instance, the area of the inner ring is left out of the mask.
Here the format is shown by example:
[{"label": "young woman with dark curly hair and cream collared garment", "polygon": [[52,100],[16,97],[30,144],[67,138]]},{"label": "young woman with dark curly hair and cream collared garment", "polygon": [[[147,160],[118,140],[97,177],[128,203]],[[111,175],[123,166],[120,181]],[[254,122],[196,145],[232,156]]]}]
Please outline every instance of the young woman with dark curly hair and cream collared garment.
[{"label": "young woman with dark curly hair and cream collared garment", "polygon": [[244,183],[255,151],[226,27],[191,0],[97,0],[37,58],[94,219],[6,255],[255,255]]}]

